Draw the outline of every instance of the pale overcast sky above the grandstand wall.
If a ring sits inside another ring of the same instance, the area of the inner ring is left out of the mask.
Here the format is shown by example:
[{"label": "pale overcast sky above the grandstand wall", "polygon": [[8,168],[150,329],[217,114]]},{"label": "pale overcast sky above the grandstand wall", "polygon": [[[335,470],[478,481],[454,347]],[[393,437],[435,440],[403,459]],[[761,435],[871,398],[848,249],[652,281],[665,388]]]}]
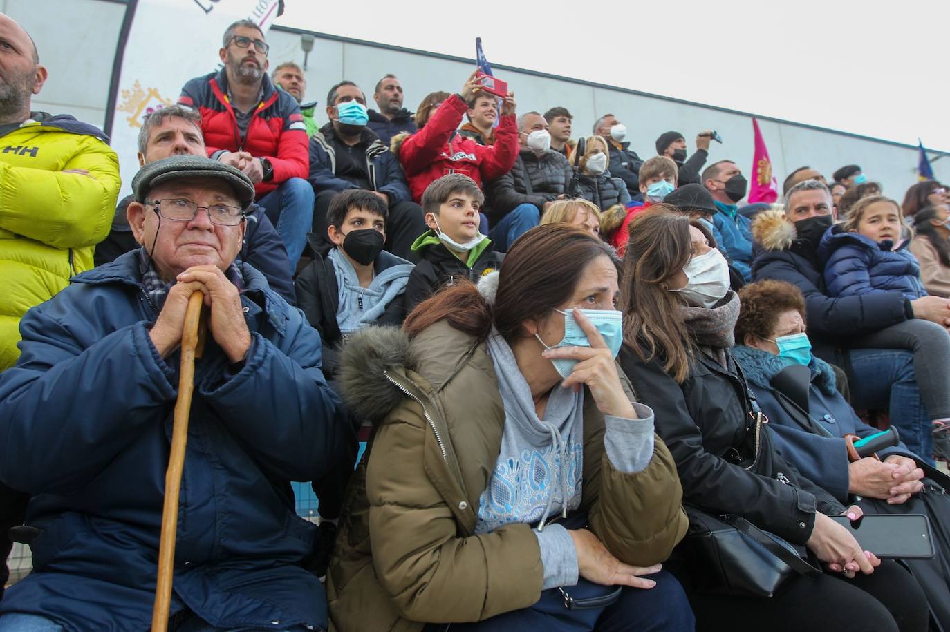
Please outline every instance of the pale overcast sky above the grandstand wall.
[{"label": "pale overcast sky above the grandstand wall", "polygon": [[492,64],[950,151],[946,0],[285,4],[276,24],[469,58],[479,36]]}]

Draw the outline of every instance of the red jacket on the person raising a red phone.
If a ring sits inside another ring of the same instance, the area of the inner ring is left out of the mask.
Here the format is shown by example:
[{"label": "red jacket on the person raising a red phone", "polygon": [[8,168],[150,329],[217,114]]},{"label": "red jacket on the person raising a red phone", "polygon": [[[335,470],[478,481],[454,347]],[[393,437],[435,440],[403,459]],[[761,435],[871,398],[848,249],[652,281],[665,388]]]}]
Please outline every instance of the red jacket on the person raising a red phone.
[{"label": "red jacket on the person raising a red phone", "polygon": [[426,126],[405,139],[399,159],[409,180],[412,199],[422,201],[431,182],[447,174],[465,174],[482,186],[484,180],[502,177],[515,166],[518,158],[518,129],[515,116],[499,119],[495,144],[480,145],[457,133],[468,107],[453,94],[428,120]]}]

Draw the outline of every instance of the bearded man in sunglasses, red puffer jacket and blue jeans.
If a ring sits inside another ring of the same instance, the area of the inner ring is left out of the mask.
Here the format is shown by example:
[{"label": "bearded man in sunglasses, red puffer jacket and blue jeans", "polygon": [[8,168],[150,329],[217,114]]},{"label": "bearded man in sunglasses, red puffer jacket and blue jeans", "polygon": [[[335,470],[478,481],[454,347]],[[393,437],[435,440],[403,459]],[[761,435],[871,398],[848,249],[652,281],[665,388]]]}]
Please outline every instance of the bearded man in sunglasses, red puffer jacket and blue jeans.
[{"label": "bearded man in sunglasses, red puffer jacket and blue jeans", "polygon": [[218,51],[223,67],[184,84],[179,102],[199,111],[208,156],[254,182],[257,203],[276,226],[293,272],[311,228],[314,190],[304,179],[307,126],[294,97],[268,76],[269,50],[254,22],[235,22]]}]

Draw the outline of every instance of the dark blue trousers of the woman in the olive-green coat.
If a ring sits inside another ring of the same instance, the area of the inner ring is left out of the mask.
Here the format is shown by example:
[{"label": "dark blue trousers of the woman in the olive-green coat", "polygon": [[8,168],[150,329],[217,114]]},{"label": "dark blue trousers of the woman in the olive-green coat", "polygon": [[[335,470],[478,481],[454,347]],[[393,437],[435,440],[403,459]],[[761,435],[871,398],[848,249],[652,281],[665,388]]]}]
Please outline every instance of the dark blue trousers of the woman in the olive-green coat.
[{"label": "dark blue trousers of the woman in the olive-green coat", "polygon": [[[448,632],[692,632],[693,608],[676,578],[666,570],[647,577],[656,580],[656,586],[649,590],[625,587],[618,600],[604,608],[568,610],[561,592],[554,588],[543,591],[531,607],[478,623],[451,623]],[[570,594],[570,586],[564,589]],[[425,631],[445,628],[445,624],[429,624]]]}]

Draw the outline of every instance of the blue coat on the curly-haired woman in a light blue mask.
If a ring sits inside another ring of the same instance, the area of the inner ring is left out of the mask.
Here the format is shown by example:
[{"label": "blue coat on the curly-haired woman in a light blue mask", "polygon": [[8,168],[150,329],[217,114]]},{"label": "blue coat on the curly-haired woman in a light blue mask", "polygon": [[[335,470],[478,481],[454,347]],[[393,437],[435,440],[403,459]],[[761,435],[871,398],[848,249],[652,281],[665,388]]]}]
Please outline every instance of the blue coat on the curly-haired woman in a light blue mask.
[{"label": "blue coat on the curly-haired woman in a light blue mask", "polygon": [[[790,412],[794,410],[794,404],[771,385],[771,379],[788,366],[787,362],[767,351],[745,345],[735,346],[732,357],[739,362],[755,399],[769,418],[769,428],[774,432],[782,455],[803,476],[817,481],[826,492],[846,502],[850,473],[845,435],[867,437],[881,431],[867,425],[855,414],[838,392],[831,367],[815,357],[808,364],[811,371],[808,416],[826,430],[827,435],[822,436],[805,427],[799,417]],[[878,454],[881,458],[889,455],[920,458],[911,454],[903,443]]]}]

